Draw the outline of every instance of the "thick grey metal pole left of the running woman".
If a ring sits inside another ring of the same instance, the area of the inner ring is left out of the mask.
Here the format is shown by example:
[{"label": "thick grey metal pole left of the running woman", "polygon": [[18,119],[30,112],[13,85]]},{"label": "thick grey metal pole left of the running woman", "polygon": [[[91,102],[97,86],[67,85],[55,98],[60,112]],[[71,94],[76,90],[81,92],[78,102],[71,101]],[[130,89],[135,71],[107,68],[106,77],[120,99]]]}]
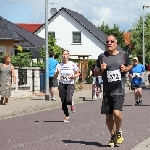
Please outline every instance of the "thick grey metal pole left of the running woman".
[{"label": "thick grey metal pole left of the running woman", "polygon": [[45,101],[49,101],[48,0],[45,0]]}]

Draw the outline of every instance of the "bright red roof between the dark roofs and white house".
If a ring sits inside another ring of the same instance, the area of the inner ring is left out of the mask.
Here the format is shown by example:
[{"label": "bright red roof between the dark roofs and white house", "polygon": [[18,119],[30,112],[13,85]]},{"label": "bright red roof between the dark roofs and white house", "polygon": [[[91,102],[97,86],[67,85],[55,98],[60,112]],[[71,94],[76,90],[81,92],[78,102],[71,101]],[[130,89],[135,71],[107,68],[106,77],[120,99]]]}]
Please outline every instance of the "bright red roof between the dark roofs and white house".
[{"label": "bright red roof between the dark roofs and white house", "polygon": [[31,24],[29,24],[29,23],[16,23],[16,25],[19,26],[19,27],[21,27],[21,28],[23,28],[23,29],[25,29],[25,30],[27,30],[27,31],[29,31],[29,32],[31,32],[31,33],[33,33],[33,32],[35,32],[42,24],[40,24],[40,23],[36,23],[36,24],[34,24],[34,23],[31,23]]}]

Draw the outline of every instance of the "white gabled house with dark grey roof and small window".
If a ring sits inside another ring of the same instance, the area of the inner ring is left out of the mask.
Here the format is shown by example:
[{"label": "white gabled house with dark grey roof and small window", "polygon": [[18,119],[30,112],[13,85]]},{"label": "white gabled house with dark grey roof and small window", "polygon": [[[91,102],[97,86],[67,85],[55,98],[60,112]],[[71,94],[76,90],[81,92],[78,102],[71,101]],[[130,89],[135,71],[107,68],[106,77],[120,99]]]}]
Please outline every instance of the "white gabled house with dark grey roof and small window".
[{"label": "white gabled house with dark grey roof and small window", "polygon": [[[57,45],[69,50],[72,59],[87,55],[97,59],[105,50],[106,35],[82,14],[61,8],[48,21],[48,32],[57,39]],[[45,38],[45,24],[34,34]]]}]

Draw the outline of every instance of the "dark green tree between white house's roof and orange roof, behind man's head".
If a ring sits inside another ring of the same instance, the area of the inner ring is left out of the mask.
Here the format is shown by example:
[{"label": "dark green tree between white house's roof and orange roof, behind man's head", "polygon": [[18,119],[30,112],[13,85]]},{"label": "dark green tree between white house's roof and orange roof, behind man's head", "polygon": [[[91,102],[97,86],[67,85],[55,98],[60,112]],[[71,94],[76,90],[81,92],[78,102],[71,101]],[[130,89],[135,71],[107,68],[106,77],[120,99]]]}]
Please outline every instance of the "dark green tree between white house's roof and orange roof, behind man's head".
[{"label": "dark green tree between white house's roof and orange roof, behind man's head", "polygon": [[106,35],[114,35],[117,38],[118,45],[120,45],[120,47],[122,47],[125,51],[128,51],[129,46],[125,45],[123,35],[124,31],[120,31],[118,25],[114,24],[113,28],[110,28],[108,24],[105,25],[105,23],[103,22],[103,24],[101,26],[98,26],[98,28]]}]

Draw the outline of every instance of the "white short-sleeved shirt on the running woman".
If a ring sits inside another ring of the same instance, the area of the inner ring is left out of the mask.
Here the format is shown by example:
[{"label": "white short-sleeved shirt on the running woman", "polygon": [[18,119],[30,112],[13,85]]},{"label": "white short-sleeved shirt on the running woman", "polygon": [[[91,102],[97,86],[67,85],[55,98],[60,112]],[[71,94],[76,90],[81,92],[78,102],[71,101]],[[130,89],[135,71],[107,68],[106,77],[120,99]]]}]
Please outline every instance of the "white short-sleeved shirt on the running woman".
[{"label": "white short-sleeved shirt on the running woman", "polygon": [[63,84],[74,84],[74,79],[69,79],[70,75],[74,75],[74,71],[78,71],[77,65],[69,61],[67,64],[60,63],[56,66],[57,69],[60,70],[60,80],[59,82]]}]

